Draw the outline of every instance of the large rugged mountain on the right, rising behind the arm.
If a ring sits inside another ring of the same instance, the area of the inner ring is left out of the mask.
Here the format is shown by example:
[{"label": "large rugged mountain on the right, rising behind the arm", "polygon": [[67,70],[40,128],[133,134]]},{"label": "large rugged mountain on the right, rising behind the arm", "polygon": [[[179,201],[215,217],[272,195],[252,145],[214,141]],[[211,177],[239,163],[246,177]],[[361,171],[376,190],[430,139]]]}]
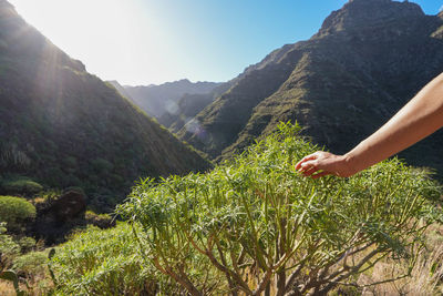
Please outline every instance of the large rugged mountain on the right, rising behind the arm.
[{"label": "large rugged mountain on the right, rising behind the arm", "polygon": [[[443,13],[412,2],[353,0],[311,39],[287,44],[245,70],[236,84],[182,129],[181,139],[223,160],[299,122],[305,134],[343,153],[371,134],[443,71]],[[402,154],[443,170],[439,132]],[[443,172],[443,171],[442,171]]]}]

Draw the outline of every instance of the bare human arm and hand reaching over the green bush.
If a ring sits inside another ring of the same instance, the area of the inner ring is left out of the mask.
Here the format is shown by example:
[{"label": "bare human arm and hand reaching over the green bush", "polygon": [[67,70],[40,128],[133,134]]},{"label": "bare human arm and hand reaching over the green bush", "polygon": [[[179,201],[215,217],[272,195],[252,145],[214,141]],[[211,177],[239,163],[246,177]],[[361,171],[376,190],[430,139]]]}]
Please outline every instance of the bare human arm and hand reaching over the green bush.
[{"label": "bare human arm and hand reaching over the green bush", "polygon": [[443,126],[443,73],[427,83],[375,133],[344,155],[318,151],[296,170],[305,176],[351,176],[411,146]]}]

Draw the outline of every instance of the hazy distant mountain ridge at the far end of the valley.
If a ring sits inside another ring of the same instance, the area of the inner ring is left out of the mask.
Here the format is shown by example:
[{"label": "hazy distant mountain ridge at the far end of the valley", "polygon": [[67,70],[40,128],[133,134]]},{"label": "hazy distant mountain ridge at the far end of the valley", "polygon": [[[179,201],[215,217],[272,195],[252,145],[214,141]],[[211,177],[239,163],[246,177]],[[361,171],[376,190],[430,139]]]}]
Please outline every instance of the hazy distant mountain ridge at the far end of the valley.
[{"label": "hazy distant mountain ridge at the far end of the valley", "polygon": [[177,102],[186,93],[209,93],[222,83],[216,82],[190,82],[183,79],[166,82],[161,85],[130,86],[125,85],[126,93],[148,115],[159,119],[162,115],[177,113]]}]

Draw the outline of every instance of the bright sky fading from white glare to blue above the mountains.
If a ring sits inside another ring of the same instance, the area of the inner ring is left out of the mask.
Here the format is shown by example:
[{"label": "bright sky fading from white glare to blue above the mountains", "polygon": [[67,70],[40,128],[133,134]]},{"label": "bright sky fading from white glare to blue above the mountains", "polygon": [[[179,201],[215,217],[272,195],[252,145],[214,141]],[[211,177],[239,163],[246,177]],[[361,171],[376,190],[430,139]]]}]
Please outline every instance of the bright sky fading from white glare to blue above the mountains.
[{"label": "bright sky fading from white glare to blue above the mountains", "polygon": [[[227,81],[309,39],[347,0],[10,0],[89,72],[122,84]],[[443,0],[415,0],[426,14]]]}]

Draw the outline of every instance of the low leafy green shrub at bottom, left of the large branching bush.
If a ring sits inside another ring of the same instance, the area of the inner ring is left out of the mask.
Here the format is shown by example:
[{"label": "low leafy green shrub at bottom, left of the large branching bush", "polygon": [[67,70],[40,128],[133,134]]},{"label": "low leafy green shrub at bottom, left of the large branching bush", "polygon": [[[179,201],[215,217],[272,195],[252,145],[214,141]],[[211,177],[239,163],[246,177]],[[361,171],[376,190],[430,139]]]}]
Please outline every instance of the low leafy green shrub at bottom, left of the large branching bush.
[{"label": "low leafy green shrub at bottom, left of the large branching bush", "polygon": [[155,271],[138,254],[128,224],[89,226],[56,248],[50,266],[62,295],[154,295]]}]

